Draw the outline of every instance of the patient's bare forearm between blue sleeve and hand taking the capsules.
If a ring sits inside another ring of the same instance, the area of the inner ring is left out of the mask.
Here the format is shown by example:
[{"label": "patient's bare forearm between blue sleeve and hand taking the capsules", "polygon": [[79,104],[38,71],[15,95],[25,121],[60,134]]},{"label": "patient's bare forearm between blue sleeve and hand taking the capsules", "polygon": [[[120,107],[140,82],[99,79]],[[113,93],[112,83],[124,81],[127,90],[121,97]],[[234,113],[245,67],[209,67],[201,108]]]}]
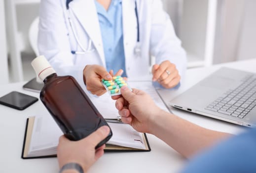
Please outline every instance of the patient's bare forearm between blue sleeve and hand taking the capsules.
[{"label": "patient's bare forearm between blue sleeve and hand taking the capsules", "polygon": [[165,111],[161,111],[153,118],[150,133],[165,141],[187,158],[231,135],[202,128]]}]

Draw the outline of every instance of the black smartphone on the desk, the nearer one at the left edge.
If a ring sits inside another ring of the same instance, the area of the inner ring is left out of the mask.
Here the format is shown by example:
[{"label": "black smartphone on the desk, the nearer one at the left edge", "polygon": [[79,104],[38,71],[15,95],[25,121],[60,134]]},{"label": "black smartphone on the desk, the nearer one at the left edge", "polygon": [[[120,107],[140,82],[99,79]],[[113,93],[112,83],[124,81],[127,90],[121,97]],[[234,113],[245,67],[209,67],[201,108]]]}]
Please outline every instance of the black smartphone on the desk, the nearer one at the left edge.
[{"label": "black smartphone on the desk, the nearer one at the left edge", "polygon": [[33,103],[37,102],[38,98],[33,97],[21,92],[12,91],[2,97],[0,97],[0,104],[18,109],[24,110]]}]

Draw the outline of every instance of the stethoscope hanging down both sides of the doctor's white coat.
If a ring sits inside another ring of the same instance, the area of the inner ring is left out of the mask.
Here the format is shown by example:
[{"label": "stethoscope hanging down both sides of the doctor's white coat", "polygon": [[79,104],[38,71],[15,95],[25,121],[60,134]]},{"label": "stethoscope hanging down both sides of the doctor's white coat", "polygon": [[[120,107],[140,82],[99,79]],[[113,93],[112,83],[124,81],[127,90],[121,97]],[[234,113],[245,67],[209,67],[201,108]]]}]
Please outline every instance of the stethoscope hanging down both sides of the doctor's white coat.
[{"label": "stethoscope hanging down both sides of the doctor's white coat", "polygon": [[[75,32],[75,29],[74,29],[74,26],[73,26],[73,22],[72,22],[72,19],[71,19],[71,12],[72,9],[69,8],[69,3],[71,2],[72,0],[67,0],[66,1],[66,7],[67,7],[67,11],[68,11],[68,20],[69,20],[69,24],[70,24],[70,28],[71,28],[71,31],[73,33],[73,36],[74,36],[74,39],[76,41],[76,43],[79,45],[79,47],[81,48],[82,51],[76,51],[76,50],[71,50],[71,53],[72,54],[86,54],[86,53],[91,53],[93,51],[95,51],[95,48],[92,47],[92,40],[89,39],[89,42],[88,42],[88,45],[87,45],[87,48],[85,48],[82,43],[80,42],[80,40],[78,39],[78,36],[77,36],[77,33]],[[137,8],[137,2],[135,0],[135,15],[136,15],[136,21],[137,21],[137,43],[134,47],[134,54],[136,57],[140,56],[141,55],[141,43],[140,43],[140,25],[139,25],[139,16],[138,16],[138,8]]]}]

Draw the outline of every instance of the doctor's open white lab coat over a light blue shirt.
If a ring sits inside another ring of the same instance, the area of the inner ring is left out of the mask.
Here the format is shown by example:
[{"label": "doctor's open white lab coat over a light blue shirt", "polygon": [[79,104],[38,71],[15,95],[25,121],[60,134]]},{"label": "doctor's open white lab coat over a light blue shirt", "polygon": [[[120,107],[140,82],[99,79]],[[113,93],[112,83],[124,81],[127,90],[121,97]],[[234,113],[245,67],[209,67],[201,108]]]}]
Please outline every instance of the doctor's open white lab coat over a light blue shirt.
[{"label": "doctor's open white lab coat over a light blue shirt", "polygon": [[[79,41],[87,48],[92,40],[96,51],[87,54],[72,54],[80,50],[70,28],[66,0],[41,0],[39,12],[38,49],[54,67],[58,75],[72,75],[83,84],[83,69],[87,64],[106,67],[100,25],[94,0],[73,0],[69,7]],[[186,67],[185,51],[175,35],[172,22],[163,10],[161,0],[137,0],[141,57],[134,55],[137,43],[137,20],[135,0],[122,0],[123,42],[125,68],[128,78],[149,74],[149,55],[160,64],[170,60],[180,75]]]}]

